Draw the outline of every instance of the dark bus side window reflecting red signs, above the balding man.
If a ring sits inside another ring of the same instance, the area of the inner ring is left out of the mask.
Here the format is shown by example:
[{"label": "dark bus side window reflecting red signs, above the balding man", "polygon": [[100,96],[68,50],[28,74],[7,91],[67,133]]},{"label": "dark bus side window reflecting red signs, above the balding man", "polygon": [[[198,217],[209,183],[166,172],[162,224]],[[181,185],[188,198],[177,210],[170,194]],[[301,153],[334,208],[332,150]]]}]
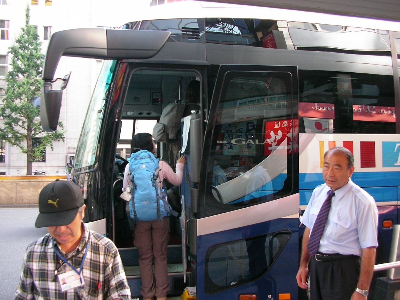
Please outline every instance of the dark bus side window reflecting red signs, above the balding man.
[{"label": "dark bus side window reflecting red signs, above the balding man", "polygon": [[388,76],[300,70],[299,78],[301,133],[396,132]]}]

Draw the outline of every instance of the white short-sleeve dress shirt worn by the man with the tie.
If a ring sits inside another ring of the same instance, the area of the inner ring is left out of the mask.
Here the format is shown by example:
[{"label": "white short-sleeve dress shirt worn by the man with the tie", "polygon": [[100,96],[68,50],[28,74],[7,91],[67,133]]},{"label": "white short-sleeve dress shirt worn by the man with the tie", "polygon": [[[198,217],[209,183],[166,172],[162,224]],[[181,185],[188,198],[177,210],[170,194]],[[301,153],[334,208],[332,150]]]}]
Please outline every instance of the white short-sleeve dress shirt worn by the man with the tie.
[{"label": "white short-sleeve dress shirt worn by the man with the tie", "polygon": [[[300,222],[311,229],[330,188],[317,186]],[[378,209],[370,194],[349,179],[335,191],[332,206],[320,240],[319,252],[354,254],[378,246]]]}]

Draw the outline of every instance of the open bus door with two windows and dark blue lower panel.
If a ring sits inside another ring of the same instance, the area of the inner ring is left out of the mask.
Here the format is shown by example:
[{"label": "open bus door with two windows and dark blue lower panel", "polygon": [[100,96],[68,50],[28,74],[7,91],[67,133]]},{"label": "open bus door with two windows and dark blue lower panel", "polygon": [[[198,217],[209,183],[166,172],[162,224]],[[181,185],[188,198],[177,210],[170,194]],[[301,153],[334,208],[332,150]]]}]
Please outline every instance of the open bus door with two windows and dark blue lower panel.
[{"label": "open bus door with two windows and dark blue lower panel", "polygon": [[298,298],[297,103],[295,66],[220,66],[191,192],[199,299]]}]

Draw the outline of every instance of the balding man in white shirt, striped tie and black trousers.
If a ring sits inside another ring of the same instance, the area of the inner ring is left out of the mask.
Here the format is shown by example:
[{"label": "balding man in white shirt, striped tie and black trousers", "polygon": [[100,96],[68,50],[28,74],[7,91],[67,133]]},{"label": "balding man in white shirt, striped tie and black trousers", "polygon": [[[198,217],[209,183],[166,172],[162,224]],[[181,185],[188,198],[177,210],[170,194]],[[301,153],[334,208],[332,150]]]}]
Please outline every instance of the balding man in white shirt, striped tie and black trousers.
[{"label": "balding man in white shirt, striped tie and black trousers", "polygon": [[[353,172],[354,157],[348,149],[328,150],[322,168],[325,184],[314,189],[301,218],[306,229],[296,279],[300,288],[307,288],[310,262],[312,300],[368,295],[378,246],[378,210],[374,198],[350,179]],[[318,231],[322,235],[316,238]]]}]

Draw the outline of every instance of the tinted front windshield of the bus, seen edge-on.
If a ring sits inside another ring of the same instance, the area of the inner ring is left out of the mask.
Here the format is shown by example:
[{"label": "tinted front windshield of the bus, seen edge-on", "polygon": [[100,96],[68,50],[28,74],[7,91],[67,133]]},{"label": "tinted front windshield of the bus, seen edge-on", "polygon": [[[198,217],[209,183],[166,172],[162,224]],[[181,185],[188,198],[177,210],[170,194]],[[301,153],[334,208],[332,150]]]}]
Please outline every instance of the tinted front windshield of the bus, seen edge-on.
[{"label": "tinted front windshield of the bus, seen edge-on", "polygon": [[115,68],[116,60],[106,60],[100,71],[100,75],[94,88],[92,99],[86,113],[85,122],[80,133],[79,140],[85,140],[84,143],[78,144],[75,155],[75,170],[85,168],[89,170],[93,168],[97,157],[97,145],[100,134],[100,123],[103,119],[105,111],[105,103],[108,90]]}]

